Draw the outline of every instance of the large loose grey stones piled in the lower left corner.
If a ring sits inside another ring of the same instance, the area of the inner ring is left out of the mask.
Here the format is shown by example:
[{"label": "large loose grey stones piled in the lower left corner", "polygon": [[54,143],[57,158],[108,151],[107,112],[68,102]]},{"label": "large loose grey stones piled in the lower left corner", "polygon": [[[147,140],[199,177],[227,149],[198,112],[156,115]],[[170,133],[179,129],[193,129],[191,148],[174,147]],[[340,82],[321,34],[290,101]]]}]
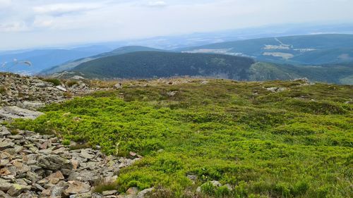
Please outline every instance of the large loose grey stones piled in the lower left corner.
[{"label": "large loose grey stones piled in the lower left corner", "polygon": [[[95,149],[70,150],[52,135],[30,131],[12,135],[3,126],[0,127],[0,197],[119,197],[116,190],[102,194],[92,190],[97,183],[114,182],[120,168],[140,159],[135,157],[105,156]],[[145,192],[130,197],[143,197]]]}]

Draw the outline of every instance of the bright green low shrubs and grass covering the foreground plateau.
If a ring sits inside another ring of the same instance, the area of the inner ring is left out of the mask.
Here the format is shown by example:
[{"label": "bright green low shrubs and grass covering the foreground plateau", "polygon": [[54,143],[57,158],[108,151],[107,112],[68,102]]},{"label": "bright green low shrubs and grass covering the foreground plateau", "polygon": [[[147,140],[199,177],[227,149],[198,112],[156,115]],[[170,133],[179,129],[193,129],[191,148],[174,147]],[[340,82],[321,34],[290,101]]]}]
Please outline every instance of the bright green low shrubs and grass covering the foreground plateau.
[{"label": "bright green low shrubs and grass covering the foreground plateau", "polygon": [[153,186],[155,197],[193,197],[202,185],[199,197],[353,197],[352,86],[177,82],[96,92],[12,127],[144,156],[100,189]]}]

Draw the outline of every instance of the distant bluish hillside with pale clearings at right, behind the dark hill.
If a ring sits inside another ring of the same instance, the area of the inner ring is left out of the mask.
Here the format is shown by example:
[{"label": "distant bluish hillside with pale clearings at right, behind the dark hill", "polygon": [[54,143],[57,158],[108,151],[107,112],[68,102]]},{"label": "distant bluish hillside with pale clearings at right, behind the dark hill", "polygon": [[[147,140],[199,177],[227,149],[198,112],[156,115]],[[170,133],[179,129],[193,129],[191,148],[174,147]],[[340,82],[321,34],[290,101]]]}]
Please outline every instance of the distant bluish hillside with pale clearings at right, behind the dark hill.
[{"label": "distant bluish hillside with pale clearings at right, behind the dark hill", "polygon": [[303,35],[249,39],[180,49],[194,53],[251,56],[258,61],[325,64],[353,61],[353,35]]}]

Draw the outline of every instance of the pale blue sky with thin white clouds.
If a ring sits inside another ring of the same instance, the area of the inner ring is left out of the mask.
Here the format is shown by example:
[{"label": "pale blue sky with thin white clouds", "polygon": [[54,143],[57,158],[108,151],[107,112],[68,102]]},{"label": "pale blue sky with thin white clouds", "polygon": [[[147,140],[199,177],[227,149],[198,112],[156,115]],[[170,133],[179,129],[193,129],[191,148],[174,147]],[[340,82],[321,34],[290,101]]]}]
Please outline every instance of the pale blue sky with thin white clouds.
[{"label": "pale blue sky with thin white clouds", "polygon": [[352,0],[0,0],[0,49],[351,23],[352,8]]}]

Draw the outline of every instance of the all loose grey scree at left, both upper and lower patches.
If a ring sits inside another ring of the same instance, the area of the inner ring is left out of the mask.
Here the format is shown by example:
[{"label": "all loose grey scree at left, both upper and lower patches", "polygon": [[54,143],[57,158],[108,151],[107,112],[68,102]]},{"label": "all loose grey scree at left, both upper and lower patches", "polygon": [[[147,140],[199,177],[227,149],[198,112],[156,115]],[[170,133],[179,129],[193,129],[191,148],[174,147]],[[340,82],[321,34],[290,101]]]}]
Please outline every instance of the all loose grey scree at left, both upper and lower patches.
[{"label": "all loose grey scree at left, both upper and lower patches", "polygon": [[[100,88],[83,82],[68,87],[54,85],[36,77],[0,74],[0,123],[14,118],[35,119],[43,113],[36,109]],[[11,130],[0,125],[0,197],[144,197],[152,189],[129,195],[116,190],[101,190],[96,185],[114,185],[120,168],[130,166],[142,156],[131,152],[129,158],[106,156],[96,146],[83,148],[54,135],[28,130]]]}]

